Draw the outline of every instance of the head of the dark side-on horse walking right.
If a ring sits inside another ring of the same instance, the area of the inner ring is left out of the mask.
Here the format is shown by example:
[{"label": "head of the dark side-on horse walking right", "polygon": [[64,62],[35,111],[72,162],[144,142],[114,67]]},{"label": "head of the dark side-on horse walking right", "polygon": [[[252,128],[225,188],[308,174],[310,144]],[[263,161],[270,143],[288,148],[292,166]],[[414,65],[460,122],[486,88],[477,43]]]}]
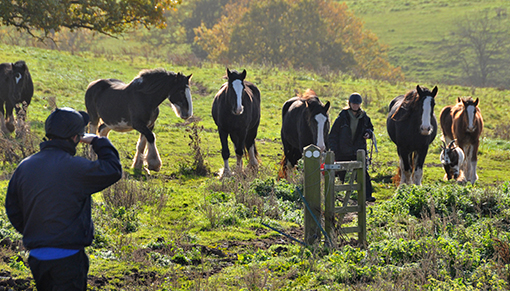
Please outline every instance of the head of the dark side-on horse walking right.
[{"label": "head of the dark side-on horse walking right", "polygon": [[175,75],[173,89],[168,96],[175,115],[182,119],[188,119],[193,115],[193,102],[191,101],[191,90],[189,81],[193,74],[185,76],[181,73]]}]

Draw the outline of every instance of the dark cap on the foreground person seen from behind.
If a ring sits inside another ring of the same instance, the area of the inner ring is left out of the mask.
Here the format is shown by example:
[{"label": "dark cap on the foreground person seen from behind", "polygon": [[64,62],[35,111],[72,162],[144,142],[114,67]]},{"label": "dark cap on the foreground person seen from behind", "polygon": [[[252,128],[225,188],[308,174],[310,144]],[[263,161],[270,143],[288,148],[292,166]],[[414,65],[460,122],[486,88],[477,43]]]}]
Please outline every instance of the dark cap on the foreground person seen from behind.
[{"label": "dark cap on the foreground person seen from behind", "polygon": [[46,118],[44,129],[48,138],[68,139],[75,135],[83,136],[88,123],[87,112],[63,107],[55,109]]}]

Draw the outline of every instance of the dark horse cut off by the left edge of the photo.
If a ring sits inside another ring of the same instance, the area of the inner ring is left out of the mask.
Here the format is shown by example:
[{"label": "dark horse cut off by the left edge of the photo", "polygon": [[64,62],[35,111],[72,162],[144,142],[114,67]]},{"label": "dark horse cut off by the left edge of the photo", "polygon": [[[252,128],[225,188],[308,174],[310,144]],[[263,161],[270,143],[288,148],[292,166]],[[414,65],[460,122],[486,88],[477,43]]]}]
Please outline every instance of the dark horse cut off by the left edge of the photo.
[{"label": "dark horse cut off by the left edge of the photo", "polygon": [[26,109],[34,95],[34,83],[25,61],[0,64],[0,88],[2,88],[0,90],[0,127],[4,133],[10,134],[14,131],[13,109],[16,109],[18,118],[24,119]]}]

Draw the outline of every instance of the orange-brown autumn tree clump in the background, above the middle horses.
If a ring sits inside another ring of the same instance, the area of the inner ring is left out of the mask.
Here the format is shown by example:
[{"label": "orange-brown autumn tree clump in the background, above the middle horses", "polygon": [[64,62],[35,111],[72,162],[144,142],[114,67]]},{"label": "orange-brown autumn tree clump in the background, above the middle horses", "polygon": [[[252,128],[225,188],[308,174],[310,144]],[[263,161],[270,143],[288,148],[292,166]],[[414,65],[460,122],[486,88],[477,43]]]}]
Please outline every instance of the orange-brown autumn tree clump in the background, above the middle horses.
[{"label": "orange-brown autumn tree clump in the background, above the middle horses", "polygon": [[211,28],[195,29],[209,59],[319,70],[399,81],[386,46],[345,3],[331,0],[233,0]]}]

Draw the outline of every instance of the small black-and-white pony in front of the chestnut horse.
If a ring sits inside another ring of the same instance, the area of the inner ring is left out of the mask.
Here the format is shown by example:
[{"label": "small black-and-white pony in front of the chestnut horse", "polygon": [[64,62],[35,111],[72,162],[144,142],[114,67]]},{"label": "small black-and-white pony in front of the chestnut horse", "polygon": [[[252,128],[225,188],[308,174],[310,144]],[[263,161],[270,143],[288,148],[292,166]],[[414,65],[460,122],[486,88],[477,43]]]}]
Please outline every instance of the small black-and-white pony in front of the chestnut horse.
[{"label": "small black-and-white pony in front of the chestnut horse", "polygon": [[464,151],[455,144],[455,140],[452,140],[448,146],[443,141],[440,160],[445,171],[444,180],[454,179],[459,181],[463,179]]}]

